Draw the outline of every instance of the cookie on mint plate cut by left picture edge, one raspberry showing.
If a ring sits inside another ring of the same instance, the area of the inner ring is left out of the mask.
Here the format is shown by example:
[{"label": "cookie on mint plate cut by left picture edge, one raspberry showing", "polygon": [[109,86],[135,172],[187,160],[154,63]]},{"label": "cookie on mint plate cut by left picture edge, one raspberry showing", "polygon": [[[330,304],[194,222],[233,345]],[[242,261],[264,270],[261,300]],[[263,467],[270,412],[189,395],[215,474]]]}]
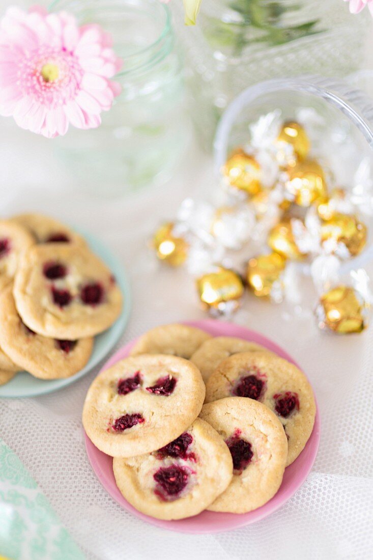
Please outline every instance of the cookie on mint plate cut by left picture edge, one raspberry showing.
[{"label": "cookie on mint plate cut by left picture edge, one raspberry showing", "polygon": [[22,226],[0,220],[0,291],[12,282],[22,254],[34,242],[34,237]]}]

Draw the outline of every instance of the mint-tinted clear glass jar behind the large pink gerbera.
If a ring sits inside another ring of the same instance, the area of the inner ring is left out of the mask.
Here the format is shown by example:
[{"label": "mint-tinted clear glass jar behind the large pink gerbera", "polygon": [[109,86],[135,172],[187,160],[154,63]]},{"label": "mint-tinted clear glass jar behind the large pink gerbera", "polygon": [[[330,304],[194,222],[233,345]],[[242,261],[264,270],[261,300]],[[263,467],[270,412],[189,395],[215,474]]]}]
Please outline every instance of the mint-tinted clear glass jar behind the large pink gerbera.
[{"label": "mint-tinted clear glass jar behind the large pink gerbera", "polygon": [[55,0],[78,24],[108,31],[123,69],[122,93],[97,129],[69,128],[55,139],[58,157],[82,188],[105,196],[169,179],[189,139],[182,60],[170,12],[158,0]]}]

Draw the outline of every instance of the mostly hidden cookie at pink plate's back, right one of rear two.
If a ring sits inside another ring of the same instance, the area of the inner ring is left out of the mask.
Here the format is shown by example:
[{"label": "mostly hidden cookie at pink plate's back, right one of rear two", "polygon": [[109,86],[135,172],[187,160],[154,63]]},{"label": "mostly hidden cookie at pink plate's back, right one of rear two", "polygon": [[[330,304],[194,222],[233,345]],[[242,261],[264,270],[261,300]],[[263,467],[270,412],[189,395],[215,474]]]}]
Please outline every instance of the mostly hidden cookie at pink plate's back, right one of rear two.
[{"label": "mostly hidden cookie at pink plate's back, right one of rear two", "polygon": [[201,371],[203,381],[206,382],[217,366],[239,352],[270,352],[264,346],[248,342],[242,338],[215,337],[206,340],[190,358]]}]

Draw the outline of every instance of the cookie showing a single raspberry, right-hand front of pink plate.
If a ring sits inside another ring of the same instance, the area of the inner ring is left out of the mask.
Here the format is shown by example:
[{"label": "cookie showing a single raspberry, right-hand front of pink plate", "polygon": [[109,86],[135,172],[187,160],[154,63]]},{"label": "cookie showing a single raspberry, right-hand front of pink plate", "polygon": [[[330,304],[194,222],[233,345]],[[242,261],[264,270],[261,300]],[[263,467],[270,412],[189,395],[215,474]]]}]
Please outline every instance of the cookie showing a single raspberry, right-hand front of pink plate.
[{"label": "cookie showing a single raspberry, right-hand front of pink plate", "polygon": [[229,487],[208,510],[244,514],[271,500],[287,458],[286,435],[277,416],[264,404],[242,397],[204,404],[200,416],[225,440],[234,469]]}]

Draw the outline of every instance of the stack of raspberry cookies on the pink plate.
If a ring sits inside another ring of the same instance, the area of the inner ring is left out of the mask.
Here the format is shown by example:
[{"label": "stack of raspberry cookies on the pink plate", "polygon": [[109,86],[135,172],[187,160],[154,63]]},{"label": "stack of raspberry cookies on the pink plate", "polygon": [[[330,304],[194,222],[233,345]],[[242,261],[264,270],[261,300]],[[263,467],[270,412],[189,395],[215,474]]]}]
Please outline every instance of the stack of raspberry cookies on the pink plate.
[{"label": "stack of raspberry cookies on the pink plate", "polygon": [[113,456],[124,498],[169,520],[264,505],[304,449],[315,412],[293,364],[258,344],[173,324],[144,334],[96,377],[83,426]]}]

